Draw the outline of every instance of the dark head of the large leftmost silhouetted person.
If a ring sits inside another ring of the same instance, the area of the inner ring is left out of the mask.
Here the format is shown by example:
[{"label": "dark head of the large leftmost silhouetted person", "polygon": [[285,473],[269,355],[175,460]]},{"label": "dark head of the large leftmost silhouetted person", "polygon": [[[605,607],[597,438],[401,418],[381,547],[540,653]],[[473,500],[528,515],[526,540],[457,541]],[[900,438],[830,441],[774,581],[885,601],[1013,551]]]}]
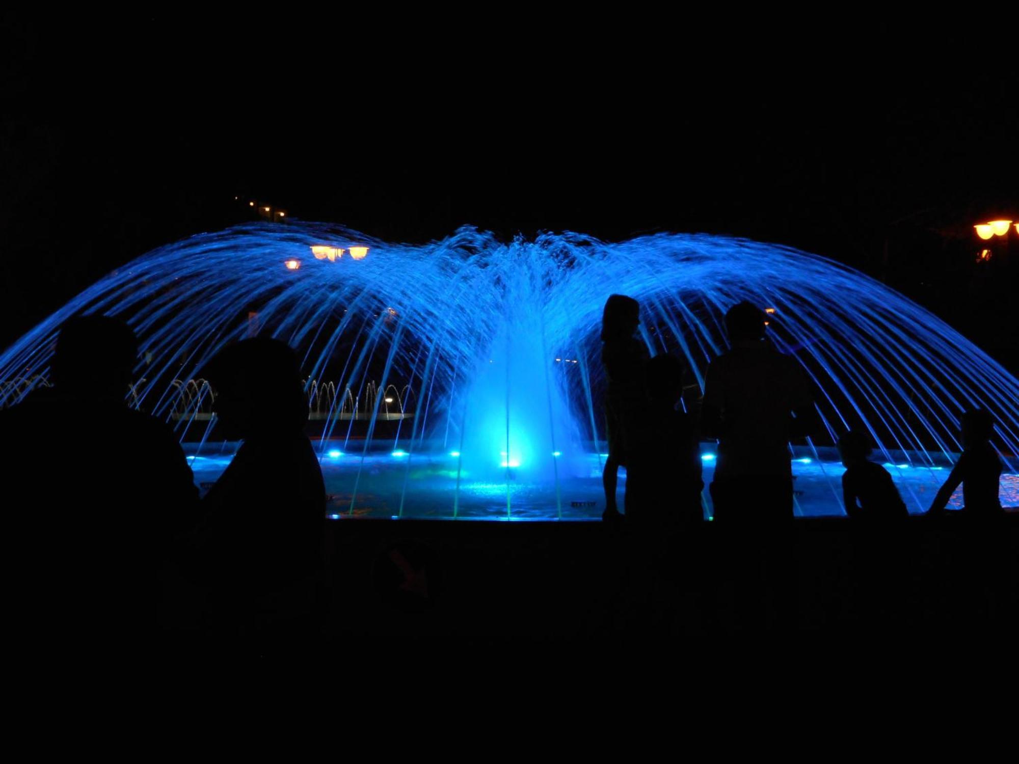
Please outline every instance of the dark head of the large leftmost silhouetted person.
[{"label": "dark head of the large leftmost silhouetted person", "polygon": [[138,338],[111,316],[76,316],[57,337],[53,380],[67,395],[123,400],[138,362]]}]

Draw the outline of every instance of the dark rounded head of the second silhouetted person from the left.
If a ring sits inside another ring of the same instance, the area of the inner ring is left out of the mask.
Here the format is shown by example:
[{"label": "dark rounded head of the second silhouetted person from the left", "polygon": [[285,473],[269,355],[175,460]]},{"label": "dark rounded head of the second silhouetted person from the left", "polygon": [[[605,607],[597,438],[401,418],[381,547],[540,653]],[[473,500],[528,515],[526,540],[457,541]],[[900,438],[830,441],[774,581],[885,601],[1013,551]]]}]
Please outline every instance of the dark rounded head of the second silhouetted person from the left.
[{"label": "dark rounded head of the second silhouetted person from the left", "polygon": [[216,390],[213,407],[228,439],[300,431],[308,421],[298,358],[277,339],[229,345],[201,376]]}]

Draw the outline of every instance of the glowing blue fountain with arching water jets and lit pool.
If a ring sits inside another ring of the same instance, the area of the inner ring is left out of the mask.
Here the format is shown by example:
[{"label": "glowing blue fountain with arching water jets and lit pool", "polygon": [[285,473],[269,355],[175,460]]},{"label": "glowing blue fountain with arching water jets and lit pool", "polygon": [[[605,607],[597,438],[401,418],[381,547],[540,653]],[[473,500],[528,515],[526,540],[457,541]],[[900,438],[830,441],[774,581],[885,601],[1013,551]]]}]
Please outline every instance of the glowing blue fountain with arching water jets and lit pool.
[{"label": "glowing blue fountain with arching water jets and lit pool", "polygon": [[212,392],[195,377],[225,343],[269,334],[303,360],[331,513],[593,517],[612,292],[640,301],[651,352],[686,358],[696,383],[725,349],[730,306],[771,312],[769,339],[809,374],[826,429],[794,453],[798,511],[842,513],[828,447],[848,427],[869,430],[911,510],[925,508],[976,405],[998,423],[1003,503],[1019,503],[1015,377],[852,269],[709,235],[505,243],[463,228],[409,245],[313,223],[202,234],[114,271],[9,347],[0,405],[46,383],[64,320],[122,316],[142,343],[132,402],[170,421],[211,480],[231,450],[210,437]]}]

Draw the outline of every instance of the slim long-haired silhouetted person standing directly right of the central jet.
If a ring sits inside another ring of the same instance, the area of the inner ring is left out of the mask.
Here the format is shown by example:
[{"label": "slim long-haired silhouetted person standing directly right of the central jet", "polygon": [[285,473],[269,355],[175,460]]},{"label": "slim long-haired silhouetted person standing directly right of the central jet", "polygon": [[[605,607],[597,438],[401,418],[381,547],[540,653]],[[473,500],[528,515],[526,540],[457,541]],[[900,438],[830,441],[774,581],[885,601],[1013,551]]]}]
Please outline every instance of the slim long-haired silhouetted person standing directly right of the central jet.
[{"label": "slim long-haired silhouetted person standing directly right of the central jet", "polygon": [[605,366],[608,389],[605,393],[605,426],[608,430],[608,458],[601,474],[605,489],[602,520],[621,517],[615,501],[620,467],[627,467],[628,449],[634,429],[647,403],[644,367],[647,346],[634,336],[640,325],[640,305],[633,297],[611,294],[601,317],[601,362]]}]

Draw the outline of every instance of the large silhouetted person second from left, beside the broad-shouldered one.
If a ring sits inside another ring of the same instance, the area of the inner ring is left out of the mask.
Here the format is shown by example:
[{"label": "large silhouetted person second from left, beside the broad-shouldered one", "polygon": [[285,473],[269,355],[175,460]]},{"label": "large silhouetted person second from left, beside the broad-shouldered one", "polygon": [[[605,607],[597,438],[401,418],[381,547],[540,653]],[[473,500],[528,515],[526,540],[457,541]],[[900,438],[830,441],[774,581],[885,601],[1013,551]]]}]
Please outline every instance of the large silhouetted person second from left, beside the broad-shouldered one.
[{"label": "large silhouetted person second from left, beside the broad-shouldered one", "polygon": [[308,402],[284,343],[249,339],[204,370],[228,440],[244,441],[202,501],[195,569],[224,634],[309,625],[320,586],[325,486],[304,434]]}]

